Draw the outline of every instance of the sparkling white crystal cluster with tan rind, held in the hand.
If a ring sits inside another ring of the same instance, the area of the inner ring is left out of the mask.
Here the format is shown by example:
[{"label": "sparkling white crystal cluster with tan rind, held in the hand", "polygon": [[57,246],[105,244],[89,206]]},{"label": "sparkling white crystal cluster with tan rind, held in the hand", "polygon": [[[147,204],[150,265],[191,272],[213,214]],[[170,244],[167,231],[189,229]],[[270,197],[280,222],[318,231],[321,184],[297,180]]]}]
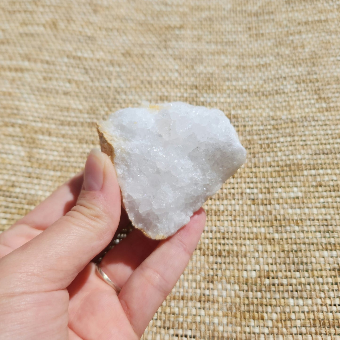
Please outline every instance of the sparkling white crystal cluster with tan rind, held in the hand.
[{"label": "sparkling white crystal cluster with tan rind, held in the hand", "polygon": [[188,223],[246,156],[223,112],[182,102],[121,109],[98,130],[113,147],[129,218],[157,239]]}]

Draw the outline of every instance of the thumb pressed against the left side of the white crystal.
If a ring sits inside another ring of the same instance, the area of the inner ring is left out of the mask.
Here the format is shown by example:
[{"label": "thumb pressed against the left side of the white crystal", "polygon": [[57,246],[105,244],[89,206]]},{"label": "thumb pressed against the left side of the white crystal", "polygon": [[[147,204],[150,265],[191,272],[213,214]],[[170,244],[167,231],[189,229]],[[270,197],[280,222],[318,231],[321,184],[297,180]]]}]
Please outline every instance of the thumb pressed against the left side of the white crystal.
[{"label": "thumb pressed against the left side of the white crystal", "polygon": [[106,154],[93,149],[77,204],[43,233],[3,257],[0,272],[6,270],[10,286],[20,291],[66,288],[112,240],[120,211],[115,168]]}]

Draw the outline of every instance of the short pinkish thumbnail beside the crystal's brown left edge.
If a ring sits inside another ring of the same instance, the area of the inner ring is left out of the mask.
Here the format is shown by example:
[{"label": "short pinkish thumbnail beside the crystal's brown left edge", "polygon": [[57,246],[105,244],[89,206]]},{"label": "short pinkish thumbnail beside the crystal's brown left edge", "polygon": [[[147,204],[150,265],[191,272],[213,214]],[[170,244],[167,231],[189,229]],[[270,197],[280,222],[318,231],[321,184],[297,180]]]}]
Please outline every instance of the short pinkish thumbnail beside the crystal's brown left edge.
[{"label": "short pinkish thumbnail beside the crystal's brown left edge", "polygon": [[84,189],[99,191],[104,179],[104,155],[98,149],[92,149],[89,153],[84,169]]}]

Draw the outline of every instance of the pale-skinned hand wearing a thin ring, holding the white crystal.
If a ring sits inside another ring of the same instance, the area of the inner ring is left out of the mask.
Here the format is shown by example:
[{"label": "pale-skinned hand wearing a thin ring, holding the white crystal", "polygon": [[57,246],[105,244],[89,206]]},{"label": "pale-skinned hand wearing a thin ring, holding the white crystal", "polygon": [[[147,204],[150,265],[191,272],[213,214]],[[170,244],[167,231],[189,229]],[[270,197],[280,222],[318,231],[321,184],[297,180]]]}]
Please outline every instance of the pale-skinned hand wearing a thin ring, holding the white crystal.
[{"label": "pale-skinned hand wearing a thin ring, holding the white crystal", "polygon": [[139,339],[176,284],[205,224],[201,208],[173,236],[134,230],[91,260],[128,223],[114,166],[92,150],[83,173],[0,234],[0,339]]}]

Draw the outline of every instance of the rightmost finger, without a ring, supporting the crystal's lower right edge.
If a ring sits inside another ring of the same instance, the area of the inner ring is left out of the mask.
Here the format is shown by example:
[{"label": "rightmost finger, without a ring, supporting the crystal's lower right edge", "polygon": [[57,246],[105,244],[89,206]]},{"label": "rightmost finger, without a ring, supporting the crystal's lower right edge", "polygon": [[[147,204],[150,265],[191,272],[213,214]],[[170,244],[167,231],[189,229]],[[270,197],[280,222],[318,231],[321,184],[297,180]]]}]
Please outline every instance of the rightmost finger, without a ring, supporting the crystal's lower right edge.
[{"label": "rightmost finger, without a ring, supporting the crystal's lower right edge", "polygon": [[205,218],[203,208],[195,212],[186,226],[159,243],[122,287],[119,301],[139,336],[187,266],[203,232]]}]

